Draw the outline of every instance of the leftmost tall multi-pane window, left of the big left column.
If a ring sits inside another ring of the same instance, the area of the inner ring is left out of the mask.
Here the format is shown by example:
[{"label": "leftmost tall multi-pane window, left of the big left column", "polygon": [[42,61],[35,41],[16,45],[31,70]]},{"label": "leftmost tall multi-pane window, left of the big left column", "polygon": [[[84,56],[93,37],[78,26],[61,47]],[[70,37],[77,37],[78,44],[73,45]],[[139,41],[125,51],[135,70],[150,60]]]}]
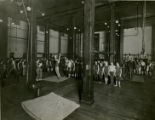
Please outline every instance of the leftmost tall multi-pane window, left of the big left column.
[{"label": "leftmost tall multi-pane window, left of the big left column", "polygon": [[27,50],[27,26],[26,22],[18,21],[14,23],[11,18],[8,19],[8,57],[11,52],[14,57],[19,58]]}]

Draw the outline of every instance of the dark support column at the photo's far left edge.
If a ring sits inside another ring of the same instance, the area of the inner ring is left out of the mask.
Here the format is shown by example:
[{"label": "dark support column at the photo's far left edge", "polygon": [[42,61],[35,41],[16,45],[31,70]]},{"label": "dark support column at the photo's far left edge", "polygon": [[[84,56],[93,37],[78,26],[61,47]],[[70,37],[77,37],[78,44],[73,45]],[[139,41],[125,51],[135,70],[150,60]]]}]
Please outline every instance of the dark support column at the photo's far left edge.
[{"label": "dark support column at the photo's far left edge", "polygon": [[0,59],[6,59],[8,52],[8,19],[5,15],[0,19],[2,20],[0,22]]}]

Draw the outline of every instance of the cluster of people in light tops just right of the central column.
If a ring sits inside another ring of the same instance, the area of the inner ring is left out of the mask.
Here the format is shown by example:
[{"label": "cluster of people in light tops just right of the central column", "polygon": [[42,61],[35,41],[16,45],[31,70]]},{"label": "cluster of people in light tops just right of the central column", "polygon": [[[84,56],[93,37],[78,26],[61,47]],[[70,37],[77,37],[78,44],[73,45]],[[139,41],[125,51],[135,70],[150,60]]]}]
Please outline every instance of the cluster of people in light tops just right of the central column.
[{"label": "cluster of people in light tops just right of the central column", "polygon": [[117,62],[108,64],[107,61],[96,60],[93,65],[93,78],[100,83],[121,87],[122,68]]}]

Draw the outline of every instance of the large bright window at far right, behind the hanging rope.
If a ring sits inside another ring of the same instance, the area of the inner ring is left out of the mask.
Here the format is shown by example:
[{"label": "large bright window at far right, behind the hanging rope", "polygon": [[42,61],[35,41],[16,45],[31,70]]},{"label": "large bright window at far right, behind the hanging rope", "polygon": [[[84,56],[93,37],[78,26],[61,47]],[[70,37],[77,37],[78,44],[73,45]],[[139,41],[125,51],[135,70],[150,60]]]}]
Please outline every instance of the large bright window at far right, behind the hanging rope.
[{"label": "large bright window at far right, behind the hanging rope", "polygon": [[[124,30],[124,54],[140,54],[142,50],[142,28]],[[145,53],[151,54],[152,27],[145,28]]]}]

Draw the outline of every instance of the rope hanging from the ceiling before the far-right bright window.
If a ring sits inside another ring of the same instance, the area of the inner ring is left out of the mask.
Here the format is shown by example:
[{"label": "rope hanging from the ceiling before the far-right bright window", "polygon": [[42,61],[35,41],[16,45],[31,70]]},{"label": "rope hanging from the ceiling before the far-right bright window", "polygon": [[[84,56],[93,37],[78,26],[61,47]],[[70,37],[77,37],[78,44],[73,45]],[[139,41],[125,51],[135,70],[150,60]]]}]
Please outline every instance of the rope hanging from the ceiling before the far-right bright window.
[{"label": "rope hanging from the ceiling before the far-right bright window", "polygon": [[145,18],[146,18],[146,0],[144,0],[143,4],[143,20],[142,20],[142,54],[145,53]]}]

